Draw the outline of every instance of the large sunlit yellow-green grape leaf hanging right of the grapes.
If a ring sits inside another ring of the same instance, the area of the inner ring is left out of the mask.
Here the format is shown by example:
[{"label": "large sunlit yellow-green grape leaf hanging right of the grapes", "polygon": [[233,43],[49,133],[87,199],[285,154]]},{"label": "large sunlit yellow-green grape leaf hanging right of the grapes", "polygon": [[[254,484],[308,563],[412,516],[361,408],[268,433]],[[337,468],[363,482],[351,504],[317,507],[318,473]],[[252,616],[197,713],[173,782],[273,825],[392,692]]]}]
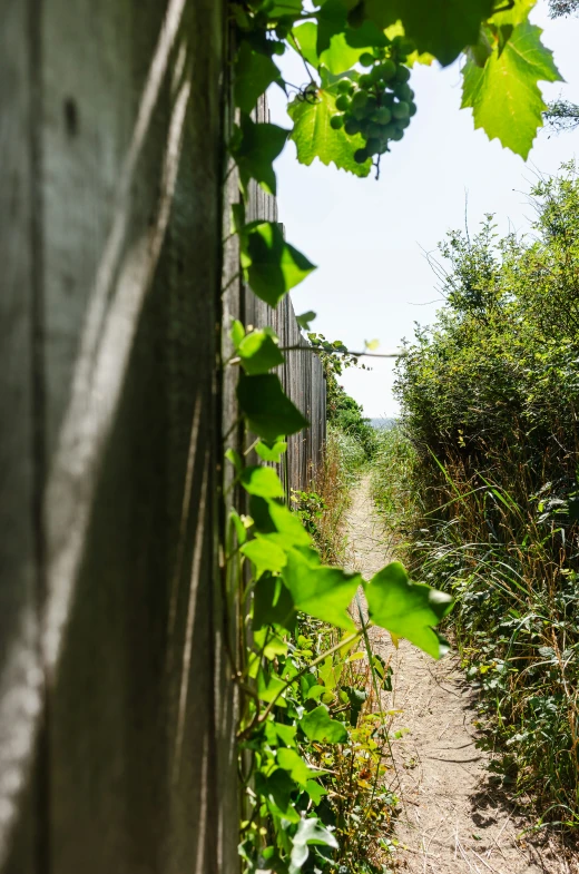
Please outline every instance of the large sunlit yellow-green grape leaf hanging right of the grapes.
[{"label": "large sunlit yellow-green grape leaf hanging right of the grapes", "polygon": [[537,82],[561,79],[541,32],[532,24],[517,24],[500,56],[497,46],[482,69],[472,59],[463,69],[462,107],[472,107],[474,127],[523,159],[547,109]]}]

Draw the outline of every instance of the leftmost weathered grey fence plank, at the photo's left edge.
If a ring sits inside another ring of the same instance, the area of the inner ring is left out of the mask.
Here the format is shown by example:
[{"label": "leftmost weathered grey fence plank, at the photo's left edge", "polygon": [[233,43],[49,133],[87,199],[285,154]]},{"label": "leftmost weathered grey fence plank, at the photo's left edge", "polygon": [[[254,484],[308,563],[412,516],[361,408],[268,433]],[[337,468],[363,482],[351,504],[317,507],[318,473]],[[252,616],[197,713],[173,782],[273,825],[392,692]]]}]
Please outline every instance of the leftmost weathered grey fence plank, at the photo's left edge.
[{"label": "leftmost weathered grey fence plank, at the photo's left edge", "polygon": [[42,706],[38,597],[40,160],[30,4],[2,4],[0,32],[0,871],[32,874],[41,848],[33,749]]}]

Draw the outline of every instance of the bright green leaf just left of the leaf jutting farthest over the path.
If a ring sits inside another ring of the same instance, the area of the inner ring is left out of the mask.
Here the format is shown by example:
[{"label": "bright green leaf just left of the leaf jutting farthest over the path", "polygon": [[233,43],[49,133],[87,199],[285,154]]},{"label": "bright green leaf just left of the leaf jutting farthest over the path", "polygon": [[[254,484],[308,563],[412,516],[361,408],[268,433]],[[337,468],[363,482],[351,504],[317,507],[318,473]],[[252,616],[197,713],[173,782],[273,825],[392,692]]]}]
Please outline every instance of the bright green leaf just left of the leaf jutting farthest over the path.
[{"label": "bright green leaf just left of the leaf jutting farthest over the path", "polygon": [[360,573],[311,564],[293,549],[287,553],[283,578],[298,610],[346,631],[355,631],[347,608],[361,585]]}]

